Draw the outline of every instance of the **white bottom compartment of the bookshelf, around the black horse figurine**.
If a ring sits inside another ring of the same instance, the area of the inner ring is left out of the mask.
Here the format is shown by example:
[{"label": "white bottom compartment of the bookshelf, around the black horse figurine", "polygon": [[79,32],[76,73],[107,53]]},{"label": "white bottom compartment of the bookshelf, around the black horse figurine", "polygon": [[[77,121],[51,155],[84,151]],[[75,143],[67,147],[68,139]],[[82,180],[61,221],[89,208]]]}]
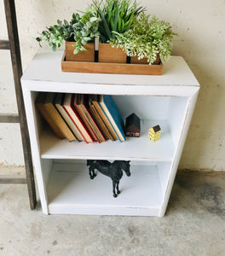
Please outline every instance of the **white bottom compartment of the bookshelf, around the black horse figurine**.
[{"label": "white bottom compartment of the bookshelf, around the black horse figurine", "polygon": [[84,208],[88,208],[89,214],[118,215],[122,211],[123,215],[136,215],[136,208],[143,215],[159,213],[162,191],[156,166],[132,166],[132,176],[124,175],[121,179],[123,196],[116,199],[112,196],[111,180],[101,173],[91,180],[82,164],[54,164],[52,168],[47,187],[52,214],[82,214]]}]

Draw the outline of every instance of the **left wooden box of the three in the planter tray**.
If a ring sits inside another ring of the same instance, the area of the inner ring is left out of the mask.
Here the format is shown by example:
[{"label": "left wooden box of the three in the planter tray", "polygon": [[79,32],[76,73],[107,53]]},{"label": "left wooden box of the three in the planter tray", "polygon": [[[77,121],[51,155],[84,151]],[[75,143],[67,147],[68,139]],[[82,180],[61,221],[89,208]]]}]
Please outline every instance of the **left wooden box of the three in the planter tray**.
[{"label": "left wooden box of the three in the planter tray", "polygon": [[75,49],[74,45],[76,42],[66,42],[66,61],[85,61],[94,62],[95,61],[95,44],[89,43],[84,46],[83,51],[79,51],[77,55],[73,54]]}]

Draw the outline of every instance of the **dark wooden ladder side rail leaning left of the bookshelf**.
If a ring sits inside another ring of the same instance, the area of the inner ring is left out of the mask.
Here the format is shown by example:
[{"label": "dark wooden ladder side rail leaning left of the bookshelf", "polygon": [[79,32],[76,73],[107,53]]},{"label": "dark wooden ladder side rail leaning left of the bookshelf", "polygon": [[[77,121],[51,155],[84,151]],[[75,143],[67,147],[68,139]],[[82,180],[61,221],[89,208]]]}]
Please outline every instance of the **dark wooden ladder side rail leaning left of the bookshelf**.
[{"label": "dark wooden ladder side rail leaning left of the bookshelf", "polygon": [[18,112],[20,117],[20,131],[22,137],[22,145],[24,152],[24,160],[26,166],[26,182],[30,201],[30,207],[33,210],[37,204],[33,167],[32,167],[32,153],[28,128],[26,124],[26,113],[24,108],[24,101],[22,96],[20,78],[22,76],[22,66],[20,58],[20,43],[17,30],[16,13],[14,0],[4,0],[5,17],[8,29],[8,36],[10,42],[11,61],[14,73],[14,89]]}]

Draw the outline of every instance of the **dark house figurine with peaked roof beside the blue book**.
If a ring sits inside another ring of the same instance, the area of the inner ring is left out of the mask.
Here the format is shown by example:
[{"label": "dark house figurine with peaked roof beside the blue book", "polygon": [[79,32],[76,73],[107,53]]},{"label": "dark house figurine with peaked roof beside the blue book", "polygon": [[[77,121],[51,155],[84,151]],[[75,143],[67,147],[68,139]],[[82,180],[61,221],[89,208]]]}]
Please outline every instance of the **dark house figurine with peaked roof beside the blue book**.
[{"label": "dark house figurine with peaked roof beside the blue book", "polygon": [[135,113],[131,113],[126,118],[125,135],[127,137],[140,137],[140,133],[140,118]]}]

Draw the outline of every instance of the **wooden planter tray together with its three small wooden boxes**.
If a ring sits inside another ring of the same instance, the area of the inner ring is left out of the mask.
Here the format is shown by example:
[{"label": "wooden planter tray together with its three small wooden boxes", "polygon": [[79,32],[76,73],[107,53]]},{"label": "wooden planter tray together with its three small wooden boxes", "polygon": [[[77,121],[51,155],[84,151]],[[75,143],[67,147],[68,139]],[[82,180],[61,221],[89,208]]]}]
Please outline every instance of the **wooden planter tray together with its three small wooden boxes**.
[{"label": "wooden planter tray together with its three small wooden boxes", "polygon": [[99,44],[98,62],[95,62],[95,44],[86,44],[86,51],[73,54],[75,42],[66,42],[66,50],[61,61],[61,70],[72,73],[118,73],[161,75],[163,64],[160,58],[148,65],[147,59],[139,61],[131,58],[131,64],[126,63],[127,55],[122,49],[113,48],[111,44]]}]

